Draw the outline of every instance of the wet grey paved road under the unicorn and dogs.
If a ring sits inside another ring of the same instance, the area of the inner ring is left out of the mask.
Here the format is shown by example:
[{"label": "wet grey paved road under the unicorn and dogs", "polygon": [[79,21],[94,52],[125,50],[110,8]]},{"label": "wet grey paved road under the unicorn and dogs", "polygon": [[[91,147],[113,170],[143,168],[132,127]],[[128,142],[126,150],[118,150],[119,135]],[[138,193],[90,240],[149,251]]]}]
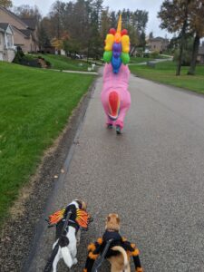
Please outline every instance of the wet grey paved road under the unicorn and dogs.
[{"label": "wet grey paved road under the unicorn and dogs", "polygon": [[[75,198],[89,203],[94,222],[72,271],[82,271],[109,212],[120,214],[121,233],[140,248],[146,272],[204,271],[204,97],[131,76],[131,110],[117,136],[104,127],[101,88],[99,78],[46,211]],[[43,271],[53,238],[44,229],[26,272]]]}]

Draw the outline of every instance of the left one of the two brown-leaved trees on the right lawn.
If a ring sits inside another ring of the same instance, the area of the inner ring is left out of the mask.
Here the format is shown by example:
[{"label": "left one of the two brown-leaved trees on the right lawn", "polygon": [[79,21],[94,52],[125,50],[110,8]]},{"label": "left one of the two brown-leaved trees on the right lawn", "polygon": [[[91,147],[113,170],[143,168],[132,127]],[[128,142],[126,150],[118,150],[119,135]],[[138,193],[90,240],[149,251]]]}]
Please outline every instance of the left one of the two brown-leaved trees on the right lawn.
[{"label": "left one of the two brown-leaved trees on the right lawn", "polygon": [[160,27],[170,33],[180,33],[180,55],[176,75],[180,75],[183,47],[189,27],[189,4],[192,0],[165,0],[160,7],[158,17]]}]

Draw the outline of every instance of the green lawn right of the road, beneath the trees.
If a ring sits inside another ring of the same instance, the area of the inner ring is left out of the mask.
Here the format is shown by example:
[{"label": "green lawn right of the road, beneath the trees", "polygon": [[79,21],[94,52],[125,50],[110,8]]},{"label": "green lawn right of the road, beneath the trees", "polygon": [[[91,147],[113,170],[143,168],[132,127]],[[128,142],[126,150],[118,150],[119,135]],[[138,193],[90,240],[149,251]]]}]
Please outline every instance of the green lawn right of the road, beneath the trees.
[{"label": "green lawn right of the road, beneath the trees", "polygon": [[155,68],[147,65],[130,65],[131,73],[155,82],[204,93],[204,65],[198,65],[196,75],[187,75],[189,67],[182,67],[181,75],[176,76],[176,64],[173,62],[157,63]]}]

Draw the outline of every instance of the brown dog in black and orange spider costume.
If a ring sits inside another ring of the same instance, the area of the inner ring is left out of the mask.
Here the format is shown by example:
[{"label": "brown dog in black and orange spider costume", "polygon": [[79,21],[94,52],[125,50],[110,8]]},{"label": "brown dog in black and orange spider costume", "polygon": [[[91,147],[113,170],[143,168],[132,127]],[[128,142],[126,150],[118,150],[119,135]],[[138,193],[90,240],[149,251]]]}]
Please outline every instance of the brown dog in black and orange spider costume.
[{"label": "brown dog in black and orange spider costume", "polygon": [[[105,222],[105,232],[102,238],[88,246],[88,257],[83,272],[97,271],[102,265],[100,256],[109,260],[112,265],[112,272],[131,272],[130,259],[133,257],[135,271],[143,272],[139,257],[139,250],[127,239],[122,238],[120,230],[120,218],[116,213],[110,213]],[[95,260],[98,263],[94,265]]]}]

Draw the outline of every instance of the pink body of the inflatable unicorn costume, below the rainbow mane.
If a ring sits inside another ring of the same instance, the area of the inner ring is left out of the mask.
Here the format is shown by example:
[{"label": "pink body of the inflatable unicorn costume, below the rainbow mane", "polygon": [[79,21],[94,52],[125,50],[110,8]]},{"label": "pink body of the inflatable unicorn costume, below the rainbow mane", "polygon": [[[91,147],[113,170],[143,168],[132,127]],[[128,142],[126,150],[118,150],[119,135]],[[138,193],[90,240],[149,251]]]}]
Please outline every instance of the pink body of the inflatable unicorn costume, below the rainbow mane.
[{"label": "pink body of the inflatable unicorn costume, below the rainbow mane", "polygon": [[103,71],[102,106],[107,115],[107,124],[123,128],[125,114],[131,106],[128,91],[130,70],[121,63],[118,73],[112,72],[112,64],[106,63]]}]

